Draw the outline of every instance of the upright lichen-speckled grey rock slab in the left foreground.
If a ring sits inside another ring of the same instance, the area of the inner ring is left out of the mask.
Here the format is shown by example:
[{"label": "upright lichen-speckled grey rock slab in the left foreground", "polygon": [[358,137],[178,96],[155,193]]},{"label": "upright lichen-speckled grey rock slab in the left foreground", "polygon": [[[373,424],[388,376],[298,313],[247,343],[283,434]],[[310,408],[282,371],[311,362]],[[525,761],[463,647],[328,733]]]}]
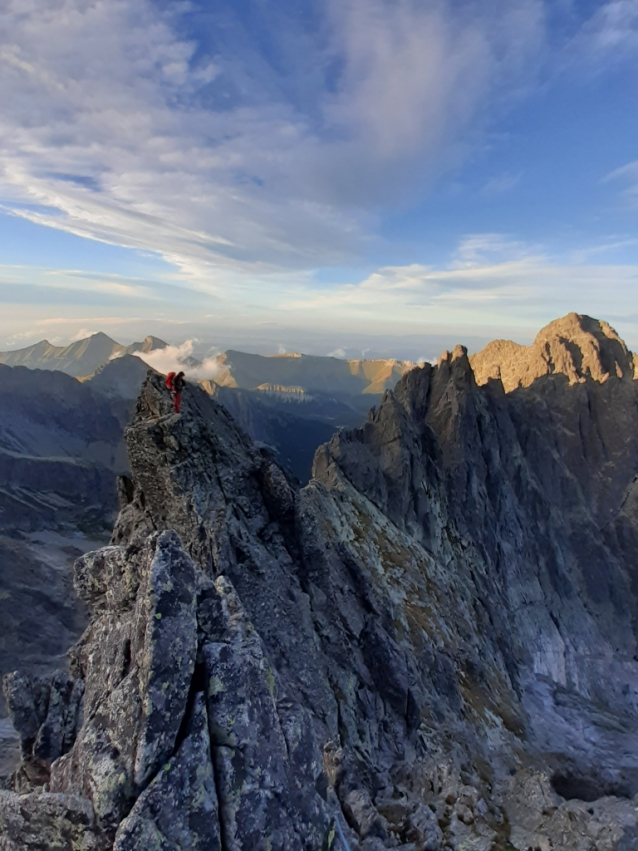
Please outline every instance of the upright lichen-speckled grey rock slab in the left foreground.
[{"label": "upright lichen-speckled grey rock slab in the left foreground", "polygon": [[51,771],[51,791],[92,800],[109,830],[173,753],[197,652],[196,570],[177,536],[154,534],[137,556],[130,570],[117,548],[78,563],[94,606],[75,650],[83,723]]}]

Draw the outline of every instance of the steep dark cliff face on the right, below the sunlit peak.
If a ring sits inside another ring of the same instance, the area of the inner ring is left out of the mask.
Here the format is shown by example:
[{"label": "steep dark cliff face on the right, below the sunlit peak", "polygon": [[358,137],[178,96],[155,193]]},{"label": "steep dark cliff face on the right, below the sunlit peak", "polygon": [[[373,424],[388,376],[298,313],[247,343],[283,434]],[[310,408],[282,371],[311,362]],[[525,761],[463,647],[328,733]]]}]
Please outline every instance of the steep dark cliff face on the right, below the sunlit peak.
[{"label": "steep dark cliff face on the right, below the sunlit peak", "polygon": [[446,507],[485,572],[476,598],[530,740],[557,770],[632,794],[637,404],[619,379],[479,388],[458,349],[408,376],[362,431],[335,437],[317,470],[345,476],[435,553]]}]

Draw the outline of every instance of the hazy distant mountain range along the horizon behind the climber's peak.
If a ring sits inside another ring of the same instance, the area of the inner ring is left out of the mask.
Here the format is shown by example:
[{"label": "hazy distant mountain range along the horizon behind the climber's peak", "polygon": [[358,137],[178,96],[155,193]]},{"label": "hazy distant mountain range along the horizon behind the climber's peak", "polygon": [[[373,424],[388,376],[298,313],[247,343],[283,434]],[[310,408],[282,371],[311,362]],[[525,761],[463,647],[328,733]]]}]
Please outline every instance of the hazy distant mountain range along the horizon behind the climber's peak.
[{"label": "hazy distant mountain range along the horizon behind the climber's peak", "polygon": [[[157,337],[148,336],[141,343],[124,346],[99,333],[65,347],[52,346],[44,340],[3,352],[0,363],[74,376],[94,393],[106,397],[112,414],[125,422],[148,371],[148,364],[136,353],[157,354],[166,348],[167,344]],[[152,357],[149,362],[155,363]],[[233,350],[206,361],[204,373],[210,378],[201,377],[202,364],[192,357],[181,362],[177,356],[163,358],[161,365],[164,369],[185,369],[187,377],[192,376],[191,381],[200,383],[222,401],[242,428],[254,440],[271,447],[302,482],[310,476],[316,447],[328,440],[336,428],[364,422],[369,397],[392,388],[414,366],[392,359],[264,357]],[[123,444],[120,451],[123,452]]]}]

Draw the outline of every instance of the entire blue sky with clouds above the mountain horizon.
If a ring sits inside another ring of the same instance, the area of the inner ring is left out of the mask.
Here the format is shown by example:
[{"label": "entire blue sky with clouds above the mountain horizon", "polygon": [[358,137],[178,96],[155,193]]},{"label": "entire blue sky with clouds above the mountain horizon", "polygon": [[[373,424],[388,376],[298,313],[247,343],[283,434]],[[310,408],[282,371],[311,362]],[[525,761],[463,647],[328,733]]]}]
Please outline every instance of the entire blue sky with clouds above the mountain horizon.
[{"label": "entire blue sky with clouds above the mountain horizon", "polygon": [[5,0],[0,347],[638,348],[638,0]]}]

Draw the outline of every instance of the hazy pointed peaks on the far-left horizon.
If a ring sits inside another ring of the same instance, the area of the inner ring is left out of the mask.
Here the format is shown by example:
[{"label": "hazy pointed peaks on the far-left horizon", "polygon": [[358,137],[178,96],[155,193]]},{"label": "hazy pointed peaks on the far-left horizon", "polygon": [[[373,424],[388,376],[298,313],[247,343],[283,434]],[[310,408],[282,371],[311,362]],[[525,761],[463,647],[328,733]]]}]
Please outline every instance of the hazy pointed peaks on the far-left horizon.
[{"label": "hazy pointed peaks on the far-left horizon", "polygon": [[93,375],[113,358],[132,352],[150,352],[165,346],[163,340],[152,336],[146,337],[141,343],[123,346],[99,332],[69,346],[52,346],[48,340],[41,340],[25,349],[0,352],[0,363],[7,366],[27,366],[29,369],[55,369],[80,378]]}]

